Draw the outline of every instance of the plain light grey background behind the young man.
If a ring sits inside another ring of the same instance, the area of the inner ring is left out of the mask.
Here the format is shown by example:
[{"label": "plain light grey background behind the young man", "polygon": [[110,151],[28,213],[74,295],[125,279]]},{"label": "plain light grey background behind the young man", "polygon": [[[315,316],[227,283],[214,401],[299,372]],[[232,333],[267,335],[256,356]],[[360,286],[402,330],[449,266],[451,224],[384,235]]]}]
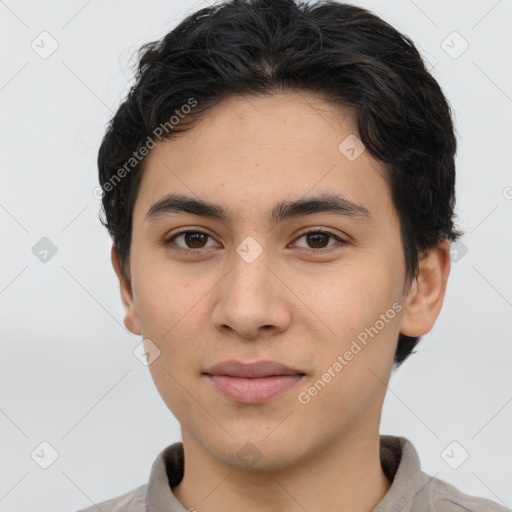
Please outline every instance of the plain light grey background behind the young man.
[{"label": "plain light grey background behind the young man", "polygon": [[[353,3],[419,45],[453,106],[467,232],[435,328],[391,379],[381,432],[413,441],[427,473],[510,507],[512,0]],[[127,492],[180,440],[132,354],[140,339],[122,324],[93,189],[133,52],[206,5],[0,1],[2,512],[73,511]],[[31,47],[43,31],[59,45],[47,59]],[[453,31],[469,44],[458,58]],[[42,237],[58,248],[46,263],[32,253]],[[454,440],[469,453],[458,469],[441,457]],[[42,441],[59,454],[48,469],[31,458]]]}]

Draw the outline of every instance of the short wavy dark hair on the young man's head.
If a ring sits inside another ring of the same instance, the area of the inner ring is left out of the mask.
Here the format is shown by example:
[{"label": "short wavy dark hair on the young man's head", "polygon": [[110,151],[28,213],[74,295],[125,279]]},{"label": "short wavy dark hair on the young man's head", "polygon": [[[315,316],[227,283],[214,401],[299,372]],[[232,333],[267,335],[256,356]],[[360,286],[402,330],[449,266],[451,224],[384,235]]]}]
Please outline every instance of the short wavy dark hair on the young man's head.
[{"label": "short wavy dark hair on the young man's head", "polygon": [[[306,91],[355,108],[361,141],[387,167],[407,286],[417,276],[420,253],[462,235],[453,221],[450,106],[413,42],[370,11],[335,1],[228,0],[190,14],[138,56],[135,83],[98,154],[100,220],[128,281],[133,207],[145,162],[139,148],[188,131],[232,95]],[[420,339],[399,335],[395,367]]]}]

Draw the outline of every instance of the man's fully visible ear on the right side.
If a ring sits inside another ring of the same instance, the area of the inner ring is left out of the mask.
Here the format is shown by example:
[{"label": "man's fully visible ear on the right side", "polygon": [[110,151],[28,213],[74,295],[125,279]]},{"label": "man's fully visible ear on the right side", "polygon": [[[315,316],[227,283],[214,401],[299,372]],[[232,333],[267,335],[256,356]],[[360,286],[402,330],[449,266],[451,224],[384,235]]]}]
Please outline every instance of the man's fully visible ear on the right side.
[{"label": "man's fully visible ear on the right side", "polygon": [[441,311],[450,274],[450,241],[442,242],[420,257],[419,272],[407,295],[400,333],[422,336],[434,327]]}]

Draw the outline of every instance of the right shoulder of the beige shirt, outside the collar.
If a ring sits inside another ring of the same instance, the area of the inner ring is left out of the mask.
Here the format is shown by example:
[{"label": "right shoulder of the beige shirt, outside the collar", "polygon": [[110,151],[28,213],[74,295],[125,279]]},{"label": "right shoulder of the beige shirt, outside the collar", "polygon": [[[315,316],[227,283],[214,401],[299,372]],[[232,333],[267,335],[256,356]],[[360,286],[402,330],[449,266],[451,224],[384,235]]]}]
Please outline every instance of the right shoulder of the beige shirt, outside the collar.
[{"label": "right shoulder of the beige shirt, outside the collar", "polygon": [[444,480],[425,473],[423,475],[426,483],[424,490],[428,496],[426,501],[430,504],[428,510],[442,512],[506,512],[509,510],[486,498],[463,493]]}]

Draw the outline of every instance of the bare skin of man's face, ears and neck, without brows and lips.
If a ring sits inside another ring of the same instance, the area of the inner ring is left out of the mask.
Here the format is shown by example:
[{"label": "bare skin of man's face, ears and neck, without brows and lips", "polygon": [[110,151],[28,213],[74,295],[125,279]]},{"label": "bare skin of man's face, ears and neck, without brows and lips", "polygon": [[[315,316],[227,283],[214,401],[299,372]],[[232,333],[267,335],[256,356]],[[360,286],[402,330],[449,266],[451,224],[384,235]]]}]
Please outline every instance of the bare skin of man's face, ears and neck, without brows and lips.
[{"label": "bare skin of man's face, ears and neck, without brows and lips", "polygon": [[[186,466],[172,490],[187,508],[363,512],[390,487],[379,459],[386,384],[399,333],[427,333],[440,312],[449,242],[420,259],[404,293],[399,220],[384,164],[368,151],[350,161],[338,150],[357,134],[353,114],[312,93],[230,97],[188,133],[158,143],[146,160],[130,282],[115,249],[112,263],[126,327],[160,350],[150,371],[181,425]],[[364,205],[371,219],[321,212],[269,222],[281,201],[333,191]],[[175,213],[145,222],[151,205],[170,192],[219,203],[233,219]],[[183,228],[211,238],[187,245],[181,236],[163,245]],[[308,244],[302,235],[314,228],[346,243]],[[236,252],[248,236],[263,248],[252,263]],[[401,311],[300,403],[298,394],[394,303]],[[306,375],[263,404],[235,403],[202,375],[228,359],[275,360]],[[260,455],[251,467],[237,456],[249,442]]]}]

